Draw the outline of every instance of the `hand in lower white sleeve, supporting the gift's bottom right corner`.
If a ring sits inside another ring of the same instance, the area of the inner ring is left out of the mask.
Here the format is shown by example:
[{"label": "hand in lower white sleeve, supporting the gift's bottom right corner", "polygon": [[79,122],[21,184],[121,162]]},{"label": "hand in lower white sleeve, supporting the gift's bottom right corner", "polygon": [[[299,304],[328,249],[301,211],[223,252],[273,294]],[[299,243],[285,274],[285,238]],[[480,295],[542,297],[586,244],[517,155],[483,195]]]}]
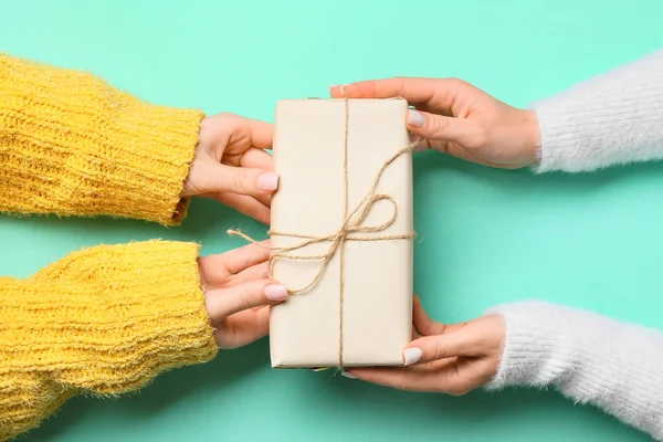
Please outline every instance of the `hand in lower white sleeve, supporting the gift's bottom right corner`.
[{"label": "hand in lower white sleeve, supporting the gift's bottom right corner", "polygon": [[403,350],[408,367],[351,368],[344,375],[400,390],[452,396],[464,394],[495,377],[506,334],[501,316],[443,325],[429,318],[417,298],[413,314],[415,339]]}]

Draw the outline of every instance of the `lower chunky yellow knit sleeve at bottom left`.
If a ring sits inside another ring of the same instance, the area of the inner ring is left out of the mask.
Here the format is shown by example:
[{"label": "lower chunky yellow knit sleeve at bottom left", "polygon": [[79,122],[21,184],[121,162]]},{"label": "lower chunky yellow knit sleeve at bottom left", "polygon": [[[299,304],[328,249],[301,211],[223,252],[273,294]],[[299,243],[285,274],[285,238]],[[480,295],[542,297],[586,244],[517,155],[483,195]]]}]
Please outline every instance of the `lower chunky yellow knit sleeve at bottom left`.
[{"label": "lower chunky yellow knit sleeve at bottom left", "polygon": [[97,246],[0,278],[0,441],[76,393],[119,394],[212,359],[197,254],[179,242]]}]

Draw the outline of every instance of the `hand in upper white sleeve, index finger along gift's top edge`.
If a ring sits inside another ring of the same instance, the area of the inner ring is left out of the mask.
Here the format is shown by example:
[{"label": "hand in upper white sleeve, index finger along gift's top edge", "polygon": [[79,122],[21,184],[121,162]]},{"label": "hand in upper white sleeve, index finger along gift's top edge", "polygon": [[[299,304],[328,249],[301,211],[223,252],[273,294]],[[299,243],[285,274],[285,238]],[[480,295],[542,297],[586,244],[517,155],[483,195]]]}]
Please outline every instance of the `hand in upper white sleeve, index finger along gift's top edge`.
[{"label": "hand in upper white sleeve, index finger along gift's top edge", "polygon": [[537,161],[539,131],[533,112],[512,107],[456,78],[389,78],[332,86],[333,97],[402,97],[408,129],[422,147],[503,169]]}]

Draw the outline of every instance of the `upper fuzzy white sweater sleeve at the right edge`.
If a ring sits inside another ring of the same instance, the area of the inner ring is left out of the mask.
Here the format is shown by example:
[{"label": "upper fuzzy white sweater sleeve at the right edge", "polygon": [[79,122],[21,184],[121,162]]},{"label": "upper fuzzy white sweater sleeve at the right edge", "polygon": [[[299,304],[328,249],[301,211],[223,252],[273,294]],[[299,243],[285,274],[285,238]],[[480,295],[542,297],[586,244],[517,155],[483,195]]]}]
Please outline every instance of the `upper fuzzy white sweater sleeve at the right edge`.
[{"label": "upper fuzzy white sweater sleeve at the right edge", "polygon": [[534,103],[537,172],[663,158],[663,50]]}]

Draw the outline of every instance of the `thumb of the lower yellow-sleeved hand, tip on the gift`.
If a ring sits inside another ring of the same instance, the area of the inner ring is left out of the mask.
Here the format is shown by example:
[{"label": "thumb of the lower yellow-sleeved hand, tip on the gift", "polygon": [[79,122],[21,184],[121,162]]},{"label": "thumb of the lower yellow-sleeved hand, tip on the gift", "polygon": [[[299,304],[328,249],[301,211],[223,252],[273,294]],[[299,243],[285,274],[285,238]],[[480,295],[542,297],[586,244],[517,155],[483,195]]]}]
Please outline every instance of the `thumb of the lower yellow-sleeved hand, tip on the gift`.
[{"label": "thumb of the lower yellow-sleeved hand, tip on the gift", "polygon": [[206,292],[204,305],[212,323],[228,316],[257,307],[285,301],[287,290],[274,280],[255,280],[225,288]]}]

